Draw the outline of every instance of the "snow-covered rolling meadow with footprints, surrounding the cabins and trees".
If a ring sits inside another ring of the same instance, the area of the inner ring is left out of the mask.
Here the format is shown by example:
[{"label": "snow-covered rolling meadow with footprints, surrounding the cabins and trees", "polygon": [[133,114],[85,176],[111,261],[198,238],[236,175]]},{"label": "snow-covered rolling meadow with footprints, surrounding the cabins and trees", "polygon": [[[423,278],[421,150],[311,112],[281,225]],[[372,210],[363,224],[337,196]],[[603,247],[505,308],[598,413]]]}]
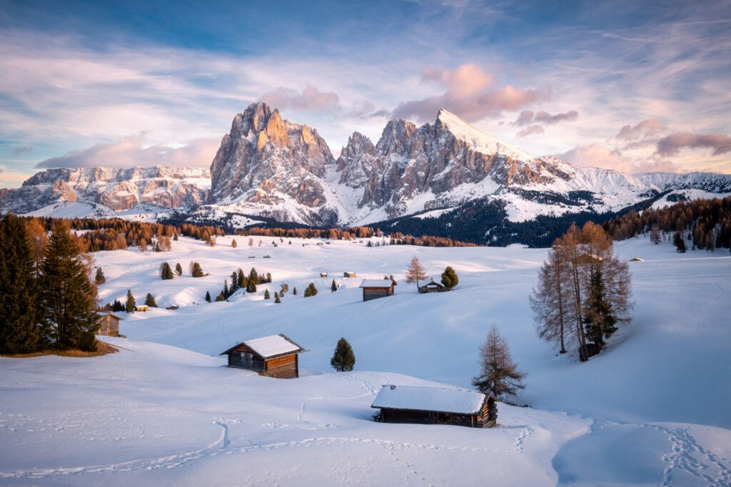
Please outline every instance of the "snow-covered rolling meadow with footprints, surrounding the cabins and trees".
[{"label": "snow-covered rolling meadow with footprints, surrounding the cabins and trees", "polygon": [[[630,264],[634,321],[578,364],[535,336],[528,295],[545,250],[272,237],[254,237],[252,248],[233,237],[231,248],[231,238],[213,248],[181,238],[170,253],[94,254],[107,277],[103,302],[124,301],[131,289],[138,303],[154,294],[160,308],[122,313],[128,339],[106,339],[119,353],[0,358],[0,483],[731,483],[725,250],[681,255],[667,243],[618,242],[620,256],[643,259]],[[414,255],[437,280],[453,266],[458,288],[417,294],[403,280]],[[162,261],[179,262],[183,277],[160,280]],[[190,261],[210,275],[190,277]],[[204,301],[231,272],[252,266],[273,283],[230,302]],[[360,280],[384,275],[398,280],[395,296],[362,302]],[[319,294],[305,299],[310,282]],[[263,299],[282,283],[281,304]],[[164,310],[170,304],[181,308]],[[371,421],[384,383],[469,387],[492,323],[529,373],[518,402],[530,407],[500,404],[500,426],[485,430]],[[299,379],[229,369],[218,356],[276,333],[308,350]],[[355,350],[355,372],[331,372],[339,337]]]}]

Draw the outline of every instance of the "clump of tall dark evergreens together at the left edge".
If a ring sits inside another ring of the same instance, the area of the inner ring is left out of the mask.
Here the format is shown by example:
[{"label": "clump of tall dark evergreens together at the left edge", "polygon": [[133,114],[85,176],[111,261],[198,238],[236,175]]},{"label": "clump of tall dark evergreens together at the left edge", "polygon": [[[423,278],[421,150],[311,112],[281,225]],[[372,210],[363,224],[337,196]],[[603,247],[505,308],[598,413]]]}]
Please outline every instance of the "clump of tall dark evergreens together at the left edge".
[{"label": "clump of tall dark evergreens together at the left edge", "polygon": [[96,350],[99,328],[92,261],[68,223],[50,238],[37,220],[0,221],[0,353]]}]

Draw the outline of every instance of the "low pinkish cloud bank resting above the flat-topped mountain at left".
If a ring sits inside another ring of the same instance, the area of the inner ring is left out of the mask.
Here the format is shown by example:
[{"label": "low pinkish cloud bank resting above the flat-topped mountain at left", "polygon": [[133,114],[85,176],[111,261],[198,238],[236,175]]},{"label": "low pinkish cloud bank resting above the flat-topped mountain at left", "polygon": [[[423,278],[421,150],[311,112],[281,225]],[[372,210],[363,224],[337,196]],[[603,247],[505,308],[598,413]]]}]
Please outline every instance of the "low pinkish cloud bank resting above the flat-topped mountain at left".
[{"label": "low pinkish cloud bank resting above the flat-topped mountain at left", "polygon": [[88,149],[73,150],[64,156],[46,159],[36,164],[36,167],[205,167],[211,164],[221,143],[219,138],[208,138],[191,140],[183,147],[145,146],[146,138],[147,134],[140,132],[119,142],[96,144]]}]

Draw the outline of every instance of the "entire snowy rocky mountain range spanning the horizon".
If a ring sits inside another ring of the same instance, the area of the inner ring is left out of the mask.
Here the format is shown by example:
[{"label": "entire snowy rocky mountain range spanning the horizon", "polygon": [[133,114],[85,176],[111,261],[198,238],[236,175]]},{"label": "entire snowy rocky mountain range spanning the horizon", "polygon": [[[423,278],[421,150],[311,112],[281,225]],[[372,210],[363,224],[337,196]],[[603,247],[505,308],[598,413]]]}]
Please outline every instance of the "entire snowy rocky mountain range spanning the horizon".
[{"label": "entire snowy rocky mountain range spanning the horizon", "polygon": [[49,169],[21,188],[0,190],[0,210],[31,212],[75,201],[112,210],[140,202],[197,204],[205,218],[243,214],[347,226],[415,213],[433,218],[471,202],[498,202],[510,221],[520,222],[582,210],[618,211],[659,193],[679,192],[677,201],[692,191],[731,193],[731,175],[624,175],[533,157],[446,110],[420,127],[391,120],[376,144],[354,132],[336,159],[316,129],[255,103],[233,119],[210,173],[173,167]]}]

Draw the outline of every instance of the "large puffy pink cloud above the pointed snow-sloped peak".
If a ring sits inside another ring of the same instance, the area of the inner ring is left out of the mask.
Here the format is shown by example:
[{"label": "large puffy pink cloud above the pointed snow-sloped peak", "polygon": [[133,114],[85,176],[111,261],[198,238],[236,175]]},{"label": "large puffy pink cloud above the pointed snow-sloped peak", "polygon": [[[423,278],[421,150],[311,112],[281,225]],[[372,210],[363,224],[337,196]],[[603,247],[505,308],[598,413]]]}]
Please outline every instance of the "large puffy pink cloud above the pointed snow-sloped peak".
[{"label": "large puffy pink cloud above the pointed snow-sloped peak", "polygon": [[395,118],[433,120],[444,108],[469,122],[495,117],[502,112],[520,110],[537,101],[550,99],[550,88],[525,90],[505,85],[494,88],[495,75],[484,72],[474,64],[463,64],[454,71],[424,69],[423,81],[435,82],[446,91],[439,96],[403,101],[393,110]]}]

